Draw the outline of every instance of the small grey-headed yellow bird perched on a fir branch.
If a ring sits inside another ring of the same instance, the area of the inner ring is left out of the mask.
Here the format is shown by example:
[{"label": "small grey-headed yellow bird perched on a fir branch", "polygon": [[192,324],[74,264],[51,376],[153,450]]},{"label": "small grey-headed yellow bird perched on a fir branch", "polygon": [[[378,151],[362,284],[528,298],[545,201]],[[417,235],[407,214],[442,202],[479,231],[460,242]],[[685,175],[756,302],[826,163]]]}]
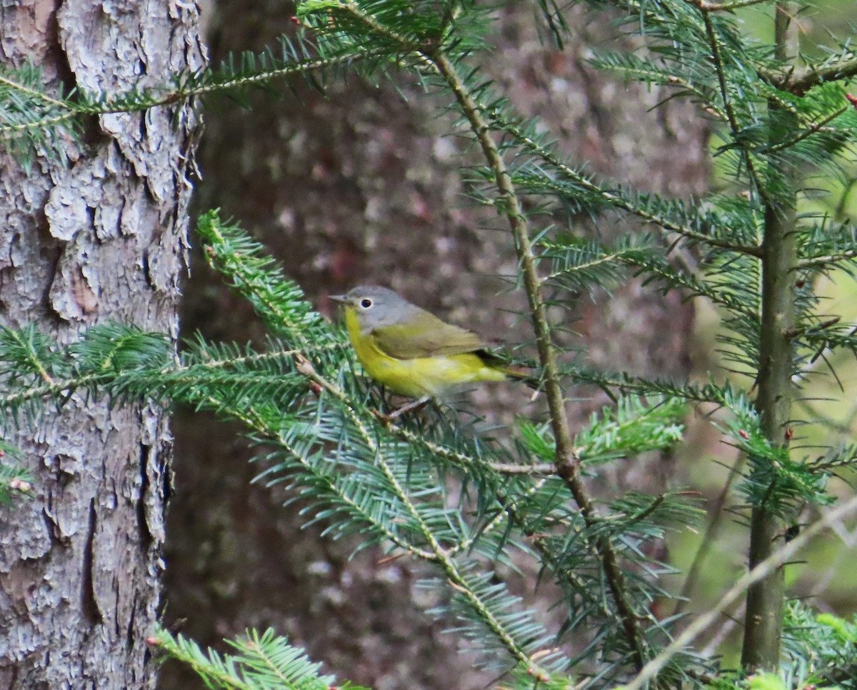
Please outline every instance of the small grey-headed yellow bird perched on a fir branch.
[{"label": "small grey-headed yellow bird perched on a fir branch", "polygon": [[529,376],[488,352],[476,333],[389,288],[357,285],[330,298],[345,305],[345,327],[363,370],[393,393],[425,401],[468,383]]}]

